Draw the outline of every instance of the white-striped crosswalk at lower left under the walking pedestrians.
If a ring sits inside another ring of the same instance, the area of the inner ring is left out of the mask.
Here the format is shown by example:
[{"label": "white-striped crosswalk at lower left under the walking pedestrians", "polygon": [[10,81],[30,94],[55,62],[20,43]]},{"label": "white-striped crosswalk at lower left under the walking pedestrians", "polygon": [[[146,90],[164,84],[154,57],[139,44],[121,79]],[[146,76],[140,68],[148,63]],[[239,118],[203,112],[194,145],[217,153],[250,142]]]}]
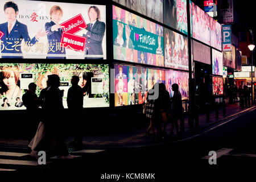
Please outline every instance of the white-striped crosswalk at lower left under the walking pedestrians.
[{"label": "white-striped crosswalk at lower left under the walking pedestrians", "polygon": [[[79,158],[81,158],[86,154],[87,155],[97,154],[103,151],[105,150],[80,150],[80,151],[73,150],[72,152],[70,152],[70,154],[75,156],[74,159],[79,160]],[[14,148],[11,148],[10,151],[6,148],[5,148],[5,151],[1,151],[1,148],[0,148],[0,173],[5,171],[19,171],[20,169],[24,169],[24,168],[33,168],[33,167],[40,167],[40,166],[43,167],[49,164],[58,163],[60,161],[63,161],[63,160],[61,160],[60,158],[57,158],[56,156],[52,156],[50,158],[47,158],[47,162],[45,165],[42,165],[38,162],[38,160],[33,159],[30,156],[29,152],[19,152],[18,149],[15,151]]]}]

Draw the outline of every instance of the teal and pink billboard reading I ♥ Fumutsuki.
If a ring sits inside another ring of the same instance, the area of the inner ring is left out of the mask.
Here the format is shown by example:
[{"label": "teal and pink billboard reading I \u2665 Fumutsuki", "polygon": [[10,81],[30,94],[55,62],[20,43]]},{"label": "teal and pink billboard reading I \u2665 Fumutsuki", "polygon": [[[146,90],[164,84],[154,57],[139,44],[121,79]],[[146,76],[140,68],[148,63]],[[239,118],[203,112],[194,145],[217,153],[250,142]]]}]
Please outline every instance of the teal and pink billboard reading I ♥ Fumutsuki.
[{"label": "teal and pink billboard reading I \u2665 Fumutsuki", "polygon": [[164,66],[163,27],[113,6],[114,59]]}]

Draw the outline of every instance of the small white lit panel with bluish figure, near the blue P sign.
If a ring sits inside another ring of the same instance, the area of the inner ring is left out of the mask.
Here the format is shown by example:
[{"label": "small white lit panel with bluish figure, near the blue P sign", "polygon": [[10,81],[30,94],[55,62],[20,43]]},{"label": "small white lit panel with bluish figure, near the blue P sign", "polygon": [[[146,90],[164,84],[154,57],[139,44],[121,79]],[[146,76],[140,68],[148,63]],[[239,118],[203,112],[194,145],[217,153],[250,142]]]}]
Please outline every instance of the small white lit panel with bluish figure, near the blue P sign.
[{"label": "small white lit panel with bluish figure, near the blue P sign", "polygon": [[212,74],[223,75],[223,55],[215,49],[212,49]]}]

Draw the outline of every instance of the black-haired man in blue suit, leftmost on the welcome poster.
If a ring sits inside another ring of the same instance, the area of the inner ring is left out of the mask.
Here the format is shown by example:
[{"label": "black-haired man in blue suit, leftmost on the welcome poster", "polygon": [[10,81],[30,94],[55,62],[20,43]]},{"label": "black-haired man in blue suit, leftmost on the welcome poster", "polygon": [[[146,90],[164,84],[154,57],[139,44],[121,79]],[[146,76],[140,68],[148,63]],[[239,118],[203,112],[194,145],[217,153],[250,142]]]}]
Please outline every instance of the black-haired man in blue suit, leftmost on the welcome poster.
[{"label": "black-haired man in blue suit, leftmost on the welcome poster", "polygon": [[3,55],[2,58],[23,58],[21,50],[22,40],[24,39],[25,42],[32,46],[40,37],[46,36],[47,32],[41,32],[42,30],[40,30],[34,38],[30,39],[26,24],[16,20],[19,12],[18,6],[14,2],[6,2],[3,10],[5,11],[7,22],[0,24],[0,31],[4,34],[1,38],[1,43],[4,46],[1,47],[1,53],[19,53],[21,55]]}]

